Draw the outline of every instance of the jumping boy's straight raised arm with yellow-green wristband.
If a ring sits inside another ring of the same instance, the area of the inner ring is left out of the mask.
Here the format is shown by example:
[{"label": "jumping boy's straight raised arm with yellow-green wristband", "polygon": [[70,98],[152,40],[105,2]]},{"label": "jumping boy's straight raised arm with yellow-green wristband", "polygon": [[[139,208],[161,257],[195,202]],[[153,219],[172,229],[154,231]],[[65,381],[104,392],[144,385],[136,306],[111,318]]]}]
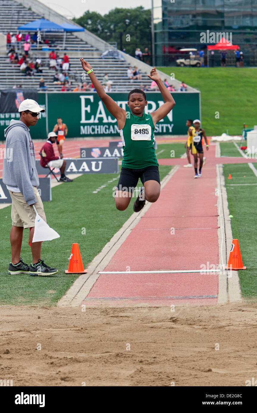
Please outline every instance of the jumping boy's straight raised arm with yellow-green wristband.
[{"label": "jumping boy's straight raised arm with yellow-green wristband", "polygon": [[[85,72],[92,70],[91,64],[86,62],[83,58],[82,59],[80,58],[80,62]],[[100,97],[101,101],[104,103],[106,109],[108,109],[108,111],[117,119],[118,126],[120,122],[121,123],[123,122],[123,120],[125,122],[126,111],[122,109],[121,107],[119,107],[116,104],[116,102],[114,102],[114,100],[105,93],[104,88],[102,87],[101,83],[95,76],[94,71],[89,73],[88,76],[90,77],[90,80],[94,85],[97,95]]]}]

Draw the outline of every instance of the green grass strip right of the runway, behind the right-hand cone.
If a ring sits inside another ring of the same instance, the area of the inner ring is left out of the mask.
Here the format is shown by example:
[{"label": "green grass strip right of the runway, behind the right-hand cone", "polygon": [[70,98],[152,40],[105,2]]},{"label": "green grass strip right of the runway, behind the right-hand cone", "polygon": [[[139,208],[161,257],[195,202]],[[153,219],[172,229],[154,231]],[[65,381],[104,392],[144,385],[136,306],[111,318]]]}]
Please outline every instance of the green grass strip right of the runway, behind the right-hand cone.
[{"label": "green grass strip right of the runway, behind the right-hand cone", "polygon": [[[246,270],[238,271],[242,295],[245,298],[257,297],[257,185],[234,185],[256,183],[257,177],[247,164],[223,166],[226,191],[231,218],[233,238],[239,242],[243,265]],[[232,179],[228,180],[229,173]]]}]

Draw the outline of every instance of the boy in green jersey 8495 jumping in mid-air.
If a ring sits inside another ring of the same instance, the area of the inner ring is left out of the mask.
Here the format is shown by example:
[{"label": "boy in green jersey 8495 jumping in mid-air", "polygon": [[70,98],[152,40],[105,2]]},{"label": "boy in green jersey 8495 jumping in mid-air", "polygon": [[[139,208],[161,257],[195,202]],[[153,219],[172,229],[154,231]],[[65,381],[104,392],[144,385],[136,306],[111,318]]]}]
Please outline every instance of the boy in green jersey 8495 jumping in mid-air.
[{"label": "boy in green jersey 8495 jumping in mid-air", "polygon": [[146,201],[156,202],[160,195],[159,165],[153,147],[154,128],[158,121],[170,113],[175,106],[175,101],[154,67],[151,74],[147,76],[157,83],[164,104],[156,111],[146,115],[144,113],[147,105],[146,94],[140,89],[133,89],[128,95],[127,102],[130,111],[126,112],[105,93],[104,88],[94,74],[92,66],[84,59],[80,59],[80,62],[90,77],[98,96],[108,111],[117,119],[123,141],[122,168],[115,193],[116,208],[124,211],[128,207],[134,188],[140,178],[144,187],[141,188],[133,206],[134,211],[139,212]]}]

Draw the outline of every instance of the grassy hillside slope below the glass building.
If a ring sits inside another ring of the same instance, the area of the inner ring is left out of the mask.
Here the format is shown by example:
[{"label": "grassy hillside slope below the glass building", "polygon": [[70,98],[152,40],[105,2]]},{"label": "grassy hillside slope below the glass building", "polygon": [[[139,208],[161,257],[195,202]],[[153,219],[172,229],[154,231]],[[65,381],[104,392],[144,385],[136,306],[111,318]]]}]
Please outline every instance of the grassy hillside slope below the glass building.
[{"label": "grassy hillside slope below the glass building", "polygon": [[[158,69],[169,77],[174,73],[179,81],[184,81],[187,85],[200,90],[202,124],[207,136],[221,135],[227,129],[229,135],[241,135],[243,123],[246,123],[248,128],[253,128],[256,123],[256,69],[236,67],[158,67]],[[219,112],[219,119],[215,119],[215,112]]]}]

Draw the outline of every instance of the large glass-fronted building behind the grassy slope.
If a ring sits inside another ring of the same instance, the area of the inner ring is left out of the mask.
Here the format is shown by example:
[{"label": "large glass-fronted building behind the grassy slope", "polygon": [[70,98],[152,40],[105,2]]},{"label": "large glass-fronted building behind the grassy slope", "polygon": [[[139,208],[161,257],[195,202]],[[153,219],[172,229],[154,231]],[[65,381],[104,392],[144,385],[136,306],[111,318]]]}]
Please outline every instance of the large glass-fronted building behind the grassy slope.
[{"label": "large glass-fronted building behind the grassy slope", "polygon": [[240,46],[245,65],[256,65],[257,0],[152,0],[152,16],[156,66],[172,64],[171,55],[181,48],[206,50],[212,44],[203,42],[207,31],[225,33]]}]

